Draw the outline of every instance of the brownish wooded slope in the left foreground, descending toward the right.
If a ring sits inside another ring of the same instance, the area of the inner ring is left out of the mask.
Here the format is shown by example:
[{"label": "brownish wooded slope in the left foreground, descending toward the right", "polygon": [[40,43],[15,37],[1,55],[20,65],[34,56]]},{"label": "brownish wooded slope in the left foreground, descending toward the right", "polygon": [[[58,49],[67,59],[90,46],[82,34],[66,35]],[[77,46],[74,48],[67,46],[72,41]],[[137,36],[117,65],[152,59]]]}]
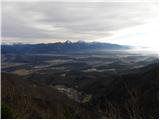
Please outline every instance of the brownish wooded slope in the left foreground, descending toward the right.
[{"label": "brownish wooded slope in the left foreground, descending toward the right", "polygon": [[95,117],[56,89],[8,73],[2,73],[2,102],[11,108],[14,118]]}]

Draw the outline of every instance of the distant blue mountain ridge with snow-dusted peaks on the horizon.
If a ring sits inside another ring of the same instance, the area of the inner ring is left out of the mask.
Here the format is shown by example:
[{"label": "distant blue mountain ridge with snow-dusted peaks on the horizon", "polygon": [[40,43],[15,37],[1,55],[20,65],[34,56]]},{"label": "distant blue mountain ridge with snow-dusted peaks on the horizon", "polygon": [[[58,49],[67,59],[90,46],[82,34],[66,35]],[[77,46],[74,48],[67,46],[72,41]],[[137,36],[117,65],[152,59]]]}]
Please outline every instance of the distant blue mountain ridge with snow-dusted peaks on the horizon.
[{"label": "distant blue mountain ridge with snow-dusted peaks on the horizon", "polygon": [[124,50],[130,49],[130,46],[118,45],[111,43],[100,42],[65,42],[57,43],[39,43],[39,44],[2,44],[1,52],[3,53],[63,53],[63,52],[84,52],[84,51],[99,51],[99,50]]}]

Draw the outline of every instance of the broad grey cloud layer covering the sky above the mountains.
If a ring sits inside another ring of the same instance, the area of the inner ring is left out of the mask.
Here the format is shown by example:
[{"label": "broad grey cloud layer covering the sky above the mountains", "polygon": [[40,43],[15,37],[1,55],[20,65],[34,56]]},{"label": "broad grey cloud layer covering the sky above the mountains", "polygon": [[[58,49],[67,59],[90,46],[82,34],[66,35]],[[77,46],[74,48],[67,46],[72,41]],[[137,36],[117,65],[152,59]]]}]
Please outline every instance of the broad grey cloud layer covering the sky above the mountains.
[{"label": "broad grey cloud layer covering the sky above the mountains", "polygon": [[156,15],[155,2],[2,2],[2,39],[92,41],[143,25]]}]

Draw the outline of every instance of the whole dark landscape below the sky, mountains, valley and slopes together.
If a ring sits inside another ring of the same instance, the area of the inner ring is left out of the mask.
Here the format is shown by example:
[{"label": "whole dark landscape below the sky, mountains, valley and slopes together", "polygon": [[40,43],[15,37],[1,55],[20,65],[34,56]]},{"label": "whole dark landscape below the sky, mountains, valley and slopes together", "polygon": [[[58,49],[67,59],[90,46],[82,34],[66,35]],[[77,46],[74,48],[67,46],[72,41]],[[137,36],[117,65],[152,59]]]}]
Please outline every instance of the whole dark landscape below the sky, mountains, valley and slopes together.
[{"label": "whole dark landscape below the sky, mountains, valley and slopes together", "polygon": [[2,102],[15,118],[159,117],[154,52],[67,41],[2,45],[1,61]]}]

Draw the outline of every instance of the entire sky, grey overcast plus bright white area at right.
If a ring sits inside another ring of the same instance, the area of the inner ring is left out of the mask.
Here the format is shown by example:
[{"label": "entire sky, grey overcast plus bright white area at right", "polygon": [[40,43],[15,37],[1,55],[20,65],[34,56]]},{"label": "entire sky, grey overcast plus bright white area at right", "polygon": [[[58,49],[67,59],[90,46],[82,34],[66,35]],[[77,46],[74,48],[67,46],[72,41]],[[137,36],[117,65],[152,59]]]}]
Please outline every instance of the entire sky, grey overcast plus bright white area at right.
[{"label": "entire sky, grey overcast plus bright white area at right", "polygon": [[98,41],[158,48],[158,0],[3,0],[2,42]]}]

